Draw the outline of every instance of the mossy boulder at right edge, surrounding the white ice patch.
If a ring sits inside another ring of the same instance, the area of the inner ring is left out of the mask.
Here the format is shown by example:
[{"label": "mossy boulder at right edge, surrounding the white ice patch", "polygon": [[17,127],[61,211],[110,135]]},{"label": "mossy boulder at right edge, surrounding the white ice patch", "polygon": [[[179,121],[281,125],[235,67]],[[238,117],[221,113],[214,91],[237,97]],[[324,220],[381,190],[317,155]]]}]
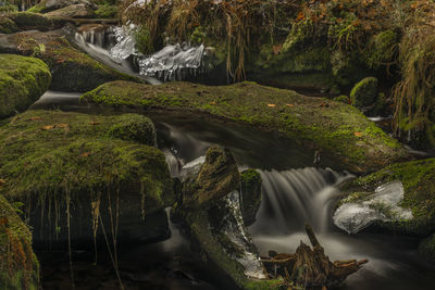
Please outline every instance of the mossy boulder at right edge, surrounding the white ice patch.
[{"label": "mossy boulder at right edge, surrounding the white ice patch", "polygon": [[344,189],[347,202],[361,200],[381,185],[400,180],[403,185],[401,207],[410,209],[410,220],[376,223],[374,228],[425,237],[435,231],[435,159],[397,163],[360,177]]}]

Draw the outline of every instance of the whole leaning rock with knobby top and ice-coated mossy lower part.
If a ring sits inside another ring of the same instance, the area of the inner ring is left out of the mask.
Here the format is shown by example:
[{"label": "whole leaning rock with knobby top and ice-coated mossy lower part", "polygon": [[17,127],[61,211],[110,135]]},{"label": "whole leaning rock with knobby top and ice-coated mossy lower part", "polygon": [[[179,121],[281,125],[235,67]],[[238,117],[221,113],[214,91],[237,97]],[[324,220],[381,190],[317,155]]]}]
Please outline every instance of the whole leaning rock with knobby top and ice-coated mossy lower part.
[{"label": "whole leaning rock with knobby top and ice-coated mossy lower part", "polygon": [[[187,197],[178,204],[177,215],[187,224],[206,256],[239,287],[269,286],[271,281],[261,280],[265,279],[263,268],[244,224],[234,157],[228,150],[212,147],[203,163],[200,161],[182,171],[185,176],[182,194]],[[212,194],[206,194],[207,188]]]}]

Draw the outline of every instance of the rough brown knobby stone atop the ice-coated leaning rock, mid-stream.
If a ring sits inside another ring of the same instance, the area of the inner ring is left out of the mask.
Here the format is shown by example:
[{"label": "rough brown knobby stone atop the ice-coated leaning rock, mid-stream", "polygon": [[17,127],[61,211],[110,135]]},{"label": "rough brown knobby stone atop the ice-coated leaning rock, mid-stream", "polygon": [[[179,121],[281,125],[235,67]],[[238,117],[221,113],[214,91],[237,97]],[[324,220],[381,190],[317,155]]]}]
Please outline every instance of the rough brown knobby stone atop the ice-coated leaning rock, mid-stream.
[{"label": "rough brown knobby stone atop the ice-coated leaning rock, mid-stream", "polygon": [[199,172],[183,180],[183,206],[207,209],[237,188],[237,164],[228,149],[212,147]]}]

